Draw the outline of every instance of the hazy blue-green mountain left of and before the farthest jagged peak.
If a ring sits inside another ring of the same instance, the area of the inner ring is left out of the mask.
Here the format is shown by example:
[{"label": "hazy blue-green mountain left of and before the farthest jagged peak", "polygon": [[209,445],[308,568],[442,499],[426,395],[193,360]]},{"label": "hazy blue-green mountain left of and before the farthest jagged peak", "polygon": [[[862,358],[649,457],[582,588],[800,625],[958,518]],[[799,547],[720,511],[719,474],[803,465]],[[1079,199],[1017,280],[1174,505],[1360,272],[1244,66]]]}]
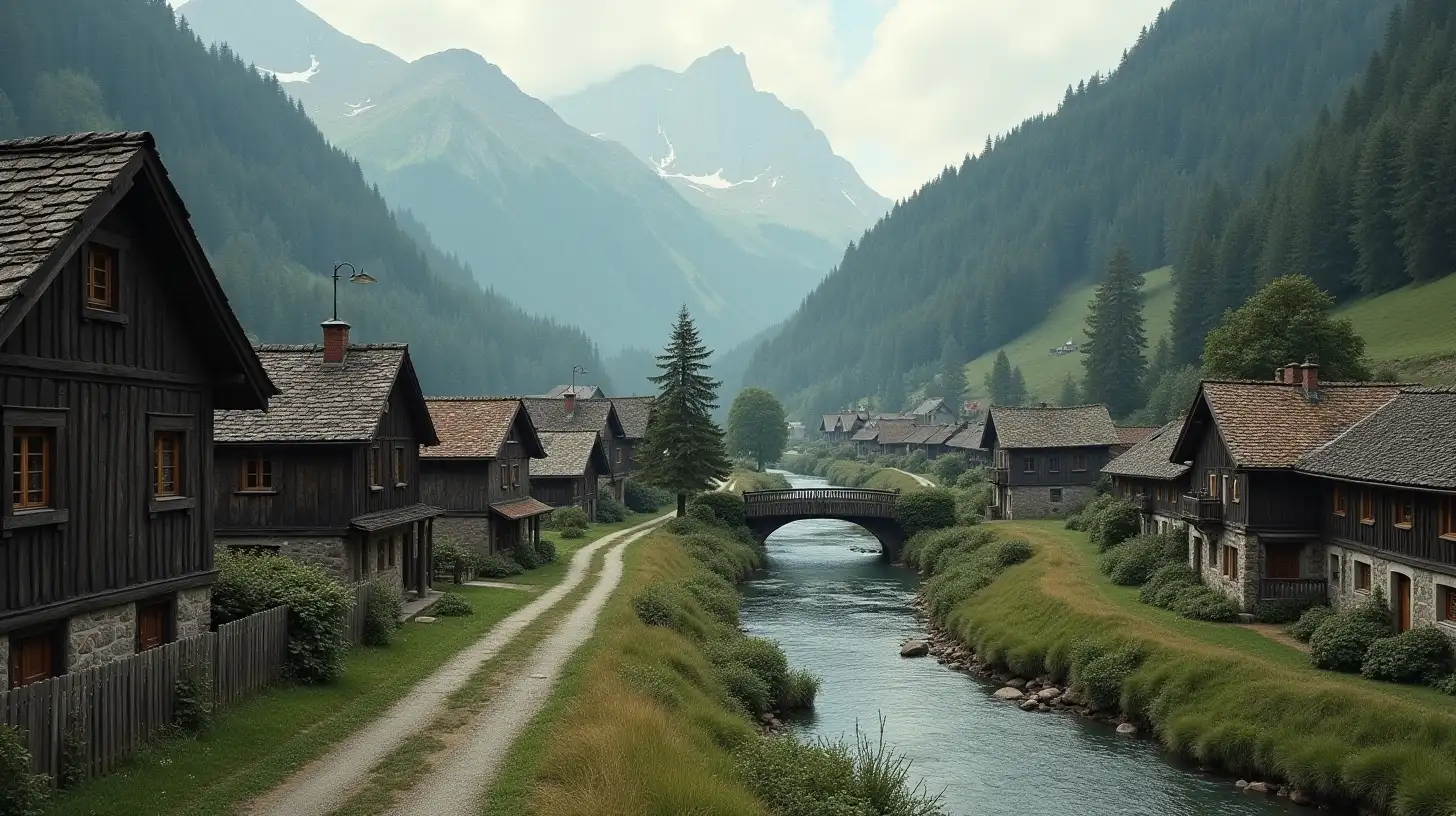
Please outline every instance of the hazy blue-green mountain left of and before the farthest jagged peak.
[{"label": "hazy blue-green mountain left of and before the farthest jagged peak", "polygon": [[[661,347],[683,303],[711,342],[737,342],[782,319],[833,264],[828,243],[798,230],[711,219],[623,146],[571,127],[470,51],[396,64],[364,87],[331,68],[361,73],[373,51],[296,0],[182,10],[204,39],[255,63],[255,52],[290,67],[317,57],[317,73],[284,86],[384,197],[482,286],[582,326],[609,351]],[[294,20],[304,20],[297,31]]]}]

